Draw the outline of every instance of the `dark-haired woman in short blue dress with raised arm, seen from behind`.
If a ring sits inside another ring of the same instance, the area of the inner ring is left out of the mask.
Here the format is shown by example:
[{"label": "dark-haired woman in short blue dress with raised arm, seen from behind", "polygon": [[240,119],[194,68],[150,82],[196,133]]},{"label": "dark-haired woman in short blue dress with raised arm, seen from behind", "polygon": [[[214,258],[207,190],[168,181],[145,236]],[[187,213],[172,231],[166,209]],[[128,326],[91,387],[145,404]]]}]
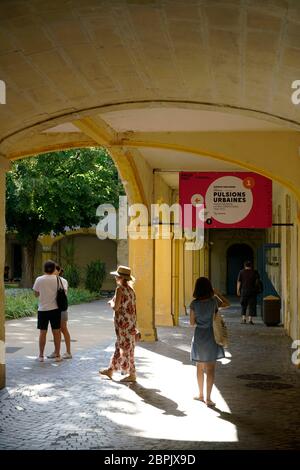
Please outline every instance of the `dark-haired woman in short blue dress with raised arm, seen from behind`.
[{"label": "dark-haired woman in short blue dress with raised arm, seen from behind", "polygon": [[[215,406],[211,391],[215,378],[216,360],[225,357],[224,349],[215,342],[213,317],[219,308],[229,307],[228,300],[214,290],[209,279],[199,277],[190,305],[190,324],[196,326],[192,340],[191,360],[197,364],[199,395],[195,400]],[[204,373],[206,373],[206,401],[203,395]]]}]

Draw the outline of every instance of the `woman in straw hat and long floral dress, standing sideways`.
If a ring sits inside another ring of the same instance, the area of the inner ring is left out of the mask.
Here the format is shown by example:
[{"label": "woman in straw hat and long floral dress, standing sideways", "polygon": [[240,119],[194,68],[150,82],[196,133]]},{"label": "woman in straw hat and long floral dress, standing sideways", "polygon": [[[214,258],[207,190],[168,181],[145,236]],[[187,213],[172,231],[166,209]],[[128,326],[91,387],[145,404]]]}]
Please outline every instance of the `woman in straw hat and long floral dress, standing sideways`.
[{"label": "woman in straw hat and long floral dress, standing sideways", "polygon": [[115,276],[117,288],[114,297],[108,302],[114,310],[114,323],[117,341],[115,352],[107,369],[100,370],[100,374],[112,378],[114,372],[126,374],[121,382],[135,382],[134,347],[138,334],[136,328],[136,298],[132,288],[134,278],[131,269],[119,266],[111,272]]}]

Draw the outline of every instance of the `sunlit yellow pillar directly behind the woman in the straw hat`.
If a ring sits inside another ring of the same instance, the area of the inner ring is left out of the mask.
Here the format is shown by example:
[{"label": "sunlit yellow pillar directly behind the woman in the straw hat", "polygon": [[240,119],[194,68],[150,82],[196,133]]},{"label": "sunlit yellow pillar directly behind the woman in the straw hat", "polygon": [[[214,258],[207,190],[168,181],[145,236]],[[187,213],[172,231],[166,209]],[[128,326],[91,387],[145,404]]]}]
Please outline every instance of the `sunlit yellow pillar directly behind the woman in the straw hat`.
[{"label": "sunlit yellow pillar directly behind the woman in the straw hat", "polygon": [[129,266],[136,278],[137,320],[142,341],[156,341],[154,240],[132,240],[129,237]]}]

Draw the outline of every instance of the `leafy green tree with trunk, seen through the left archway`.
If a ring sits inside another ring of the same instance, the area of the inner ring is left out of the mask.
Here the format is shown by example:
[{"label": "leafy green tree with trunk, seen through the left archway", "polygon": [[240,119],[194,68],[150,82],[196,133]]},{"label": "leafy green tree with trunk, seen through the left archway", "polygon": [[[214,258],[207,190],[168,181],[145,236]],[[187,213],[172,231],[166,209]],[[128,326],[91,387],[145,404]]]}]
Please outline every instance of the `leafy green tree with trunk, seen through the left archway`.
[{"label": "leafy green tree with trunk, seen through the left archway", "polygon": [[96,208],[118,207],[124,194],[117,170],[102,148],[72,149],[18,160],[7,173],[6,226],[24,246],[23,286],[31,286],[40,235],[97,222]]}]

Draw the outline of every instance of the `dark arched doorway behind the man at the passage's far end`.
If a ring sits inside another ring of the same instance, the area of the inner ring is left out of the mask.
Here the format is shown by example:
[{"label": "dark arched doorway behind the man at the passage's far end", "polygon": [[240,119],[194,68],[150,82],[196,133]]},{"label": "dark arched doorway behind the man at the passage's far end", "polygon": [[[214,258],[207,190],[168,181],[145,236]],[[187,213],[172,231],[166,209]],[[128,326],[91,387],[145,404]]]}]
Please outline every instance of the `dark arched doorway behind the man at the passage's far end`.
[{"label": "dark arched doorway behind the man at the passage's far end", "polygon": [[254,261],[251,246],[246,243],[235,243],[227,250],[227,294],[236,295],[236,282],[239,271],[243,269],[245,261]]}]

